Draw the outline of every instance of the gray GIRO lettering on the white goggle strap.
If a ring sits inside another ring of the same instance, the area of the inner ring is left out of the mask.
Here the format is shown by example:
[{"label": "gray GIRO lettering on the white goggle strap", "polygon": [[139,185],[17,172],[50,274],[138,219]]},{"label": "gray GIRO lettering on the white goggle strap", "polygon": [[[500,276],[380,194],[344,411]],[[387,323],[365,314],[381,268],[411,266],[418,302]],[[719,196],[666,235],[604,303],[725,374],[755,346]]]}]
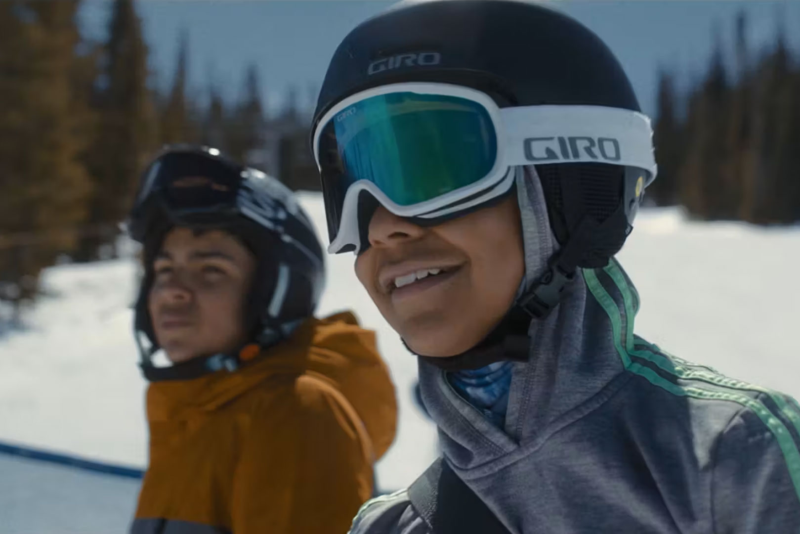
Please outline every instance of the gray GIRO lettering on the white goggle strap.
[{"label": "gray GIRO lettering on the white goggle strap", "polygon": [[525,158],[534,162],[582,159],[581,152],[591,159],[619,161],[622,158],[619,141],[613,137],[529,137],[523,143]]}]

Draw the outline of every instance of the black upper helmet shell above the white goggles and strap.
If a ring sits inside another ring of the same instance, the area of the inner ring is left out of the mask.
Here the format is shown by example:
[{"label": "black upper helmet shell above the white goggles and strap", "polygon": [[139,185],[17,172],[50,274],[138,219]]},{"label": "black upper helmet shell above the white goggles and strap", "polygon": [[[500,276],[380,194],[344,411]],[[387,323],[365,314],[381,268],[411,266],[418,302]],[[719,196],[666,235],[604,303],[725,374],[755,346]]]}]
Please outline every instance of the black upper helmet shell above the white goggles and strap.
[{"label": "black upper helmet shell above the white goggles and strap", "polygon": [[316,120],[369,87],[396,82],[470,86],[504,106],[639,110],[614,54],[558,11],[513,0],[402,2],[344,38],[320,90]]}]

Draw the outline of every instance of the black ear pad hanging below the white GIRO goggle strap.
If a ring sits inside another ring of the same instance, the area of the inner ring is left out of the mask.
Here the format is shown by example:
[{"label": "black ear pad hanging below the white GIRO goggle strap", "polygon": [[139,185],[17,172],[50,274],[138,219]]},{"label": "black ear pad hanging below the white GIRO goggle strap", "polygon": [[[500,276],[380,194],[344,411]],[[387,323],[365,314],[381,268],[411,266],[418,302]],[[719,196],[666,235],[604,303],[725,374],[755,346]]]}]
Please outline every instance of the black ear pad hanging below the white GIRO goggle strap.
[{"label": "black ear pad hanging below the white GIRO goggle strap", "polygon": [[[579,267],[605,267],[622,249],[638,207],[638,199],[626,199],[630,171],[638,169],[607,163],[555,163],[537,165],[547,203],[550,227],[560,245],[565,245],[584,219],[598,227],[582,252]],[[635,185],[634,185],[635,187]]]}]

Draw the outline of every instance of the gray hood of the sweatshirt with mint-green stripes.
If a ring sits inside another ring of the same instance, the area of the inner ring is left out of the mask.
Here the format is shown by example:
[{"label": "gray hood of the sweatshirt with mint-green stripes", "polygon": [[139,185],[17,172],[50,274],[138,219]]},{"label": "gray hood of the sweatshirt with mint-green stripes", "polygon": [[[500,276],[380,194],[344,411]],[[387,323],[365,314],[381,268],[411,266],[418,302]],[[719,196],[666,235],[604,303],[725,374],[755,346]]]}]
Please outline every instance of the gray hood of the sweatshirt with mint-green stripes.
[{"label": "gray hood of the sweatshirt with mint-green stripes", "polygon": [[[558,244],[550,230],[541,183],[533,166],[518,167],[516,191],[522,219],[526,272],[530,287],[546,269]],[[520,288],[522,293],[522,287]],[[523,450],[553,432],[563,418],[602,390],[623,371],[615,355],[602,309],[591,299],[586,283],[576,276],[561,302],[546,319],[530,323],[529,359],[514,362],[504,428],[496,428],[462,399],[443,371],[419,362],[422,399],[439,427],[442,452],[467,479],[486,476],[498,462],[510,462]],[[586,350],[591,346],[592,350]],[[610,349],[606,351],[605,348]],[[606,359],[597,354],[608,353]]]}]

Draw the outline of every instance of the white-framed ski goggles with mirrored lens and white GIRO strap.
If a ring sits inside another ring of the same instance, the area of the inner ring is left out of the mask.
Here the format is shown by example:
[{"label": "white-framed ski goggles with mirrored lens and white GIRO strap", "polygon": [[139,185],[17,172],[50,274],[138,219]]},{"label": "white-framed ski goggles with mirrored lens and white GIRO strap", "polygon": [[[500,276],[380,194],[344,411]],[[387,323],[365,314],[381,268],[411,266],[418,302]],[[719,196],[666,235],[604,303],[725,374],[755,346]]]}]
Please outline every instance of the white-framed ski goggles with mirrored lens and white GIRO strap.
[{"label": "white-framed ski goggles with mirrored lens and white GIRO strap", "polygon": [[487,94],[446,83],[363,90],[328,110],[312,138],[328,251],[362,250],[362,192],[394,215],[424,221],[502,195],[519,165],[638,167],[646,186],[656,175],[652,135],[646,115],[612,107],[500,108]]}]

